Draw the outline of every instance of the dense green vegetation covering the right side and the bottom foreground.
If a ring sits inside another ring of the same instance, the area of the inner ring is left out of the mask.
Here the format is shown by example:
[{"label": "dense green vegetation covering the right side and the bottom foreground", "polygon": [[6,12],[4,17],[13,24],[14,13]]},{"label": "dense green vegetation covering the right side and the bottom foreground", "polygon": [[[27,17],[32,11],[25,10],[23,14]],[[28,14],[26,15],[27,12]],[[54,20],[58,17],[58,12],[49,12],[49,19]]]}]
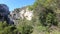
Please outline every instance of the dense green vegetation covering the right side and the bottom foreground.
[{"label": "dense green vegetation covering the right side and the bottom foreground", "polygon": [[[60,23],[57,14],[60,11],[60,0],[35,0],[29,7],[34,11],[31,21],[20,19],[17,26],[0,23],[0,34],[60,34]],[[60,19],[60,18],[59,18]],[[12,27],[16,29],[11,30]]]}]

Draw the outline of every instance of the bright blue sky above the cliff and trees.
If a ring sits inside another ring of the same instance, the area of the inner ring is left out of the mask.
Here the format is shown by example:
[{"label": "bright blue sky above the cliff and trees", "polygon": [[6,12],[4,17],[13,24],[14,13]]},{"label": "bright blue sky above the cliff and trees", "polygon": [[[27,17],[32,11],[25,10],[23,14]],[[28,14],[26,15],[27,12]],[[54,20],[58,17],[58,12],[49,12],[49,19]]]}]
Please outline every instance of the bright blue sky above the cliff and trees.
[{"label": "bright blue sky above the cliff and trees", "polygon": [[35,0],[0,0],[0,4],[6,4],[10,11],[13,11],[15,8],[32,5],[34,1]]}]

